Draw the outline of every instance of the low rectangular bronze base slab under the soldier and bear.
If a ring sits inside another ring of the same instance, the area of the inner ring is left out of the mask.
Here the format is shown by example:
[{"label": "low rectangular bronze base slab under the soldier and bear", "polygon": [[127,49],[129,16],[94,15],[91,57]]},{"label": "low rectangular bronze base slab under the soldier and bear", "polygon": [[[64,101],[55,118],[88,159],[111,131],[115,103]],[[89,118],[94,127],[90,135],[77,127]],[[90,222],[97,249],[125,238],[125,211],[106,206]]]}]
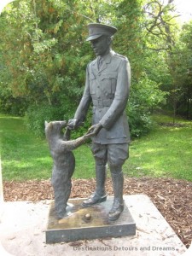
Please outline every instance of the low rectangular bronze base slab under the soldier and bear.
[{"label": "low rectangular bronze base slab under the soldier and bear", "polygon": [[67,213],[58,220],[55,215],[54,201],[49,209],[49,221],[46,243],[78,241],[104,237],[134,236],[136,224],[126,206],[119,219],[108,220],[108,212],[113,204],[113,197],[92,207],[83,207],[84,199],[68,201]]}]

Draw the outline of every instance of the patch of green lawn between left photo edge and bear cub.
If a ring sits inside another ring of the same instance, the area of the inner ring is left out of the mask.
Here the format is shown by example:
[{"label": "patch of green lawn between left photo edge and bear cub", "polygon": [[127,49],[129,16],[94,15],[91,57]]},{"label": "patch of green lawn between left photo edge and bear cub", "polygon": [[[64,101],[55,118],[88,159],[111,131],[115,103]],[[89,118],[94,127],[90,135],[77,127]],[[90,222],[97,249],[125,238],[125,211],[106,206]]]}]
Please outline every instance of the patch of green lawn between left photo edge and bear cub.
[{"label": "patch of green lawn between left photo edge and bear cub", "polygon": [[0,132],[3,179],[25,180],[50,176],[47,145],[26,130],[23,119],[1,115]]}]

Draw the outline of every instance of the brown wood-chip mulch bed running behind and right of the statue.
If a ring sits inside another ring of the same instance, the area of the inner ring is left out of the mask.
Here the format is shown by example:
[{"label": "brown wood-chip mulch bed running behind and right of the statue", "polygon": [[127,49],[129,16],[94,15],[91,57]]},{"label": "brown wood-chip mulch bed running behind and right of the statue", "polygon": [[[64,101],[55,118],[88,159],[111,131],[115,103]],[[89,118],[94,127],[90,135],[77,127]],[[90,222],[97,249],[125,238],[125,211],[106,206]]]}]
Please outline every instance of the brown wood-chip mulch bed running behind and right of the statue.
[{"label": "brown wood-chip mulch bed running behind and right of the statue", "polygon": [[[84,198],[95,188],[95,179],[73,179],[71,198]],[[108,195],[113,195],[112,183],[106,183]],[[5,201],[40,201],[53,199],[49,180],[3,182]],[[192,241],[192,183],[170,178],[125,178],[124,195],[145,194],[177,236],[189,247]]]}]

